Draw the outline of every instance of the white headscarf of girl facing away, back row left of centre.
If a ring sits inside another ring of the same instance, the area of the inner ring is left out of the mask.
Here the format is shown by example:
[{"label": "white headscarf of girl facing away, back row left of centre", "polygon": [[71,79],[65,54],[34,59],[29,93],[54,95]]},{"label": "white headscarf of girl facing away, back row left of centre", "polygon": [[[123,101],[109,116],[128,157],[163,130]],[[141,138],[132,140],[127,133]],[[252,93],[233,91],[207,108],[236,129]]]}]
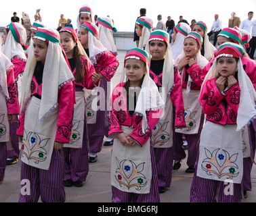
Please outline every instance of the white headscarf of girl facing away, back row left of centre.
[{"label": "white headscarf of girl facing away, back row left of centre", "polygon": [[[107,22],[108,24],[104,24],[103,22]],[[109,27],[107,28],[106,26]],[[111,18],[98,18],[98,30],[99,30],[99,40],[110,51],[111,53],[117,53],[116,45],[114,43],[113,33],[114,30],[114,24],[112,22]],[[112,27],[112,29],[111,29]]]}]

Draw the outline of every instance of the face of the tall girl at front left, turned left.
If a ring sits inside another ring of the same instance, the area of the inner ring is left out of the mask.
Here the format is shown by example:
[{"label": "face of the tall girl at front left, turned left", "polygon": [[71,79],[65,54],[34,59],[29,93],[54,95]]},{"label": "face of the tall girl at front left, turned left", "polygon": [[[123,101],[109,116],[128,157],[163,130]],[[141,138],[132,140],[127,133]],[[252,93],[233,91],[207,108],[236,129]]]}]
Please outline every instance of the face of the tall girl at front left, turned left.
[{"label": "face of the tall girl at front left, turned left", "polygon": [[37,61],[41,61],[45,64],[45,59],[48,50],[48,44],[45,41],[39,39],[33,39],[34,55]]}]

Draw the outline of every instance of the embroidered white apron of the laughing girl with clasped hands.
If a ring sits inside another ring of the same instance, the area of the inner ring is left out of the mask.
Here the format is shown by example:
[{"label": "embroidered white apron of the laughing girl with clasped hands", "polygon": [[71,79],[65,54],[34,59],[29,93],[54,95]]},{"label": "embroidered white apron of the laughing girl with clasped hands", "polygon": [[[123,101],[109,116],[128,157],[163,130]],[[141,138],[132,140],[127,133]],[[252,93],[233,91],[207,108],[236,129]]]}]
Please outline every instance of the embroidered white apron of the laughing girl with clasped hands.
[{"label": "embroidered white apron of the laughing girl with clasped hands", "polygon": [[175,132],[182,134],[197,134],[200,126],[202,115],[202,106],[198,102],[200,90],[190,90],[190,94],[186,94],[186,89],[182,89],[186,128],[182,130],[176,129]]}]

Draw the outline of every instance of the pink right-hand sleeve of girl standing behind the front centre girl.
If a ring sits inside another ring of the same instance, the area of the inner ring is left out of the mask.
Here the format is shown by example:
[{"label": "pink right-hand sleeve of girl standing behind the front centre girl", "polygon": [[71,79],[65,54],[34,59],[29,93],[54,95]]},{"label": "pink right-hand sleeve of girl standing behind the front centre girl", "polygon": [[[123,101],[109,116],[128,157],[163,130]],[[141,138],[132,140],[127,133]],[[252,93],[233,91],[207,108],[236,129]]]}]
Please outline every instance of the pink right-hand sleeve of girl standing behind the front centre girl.
[{"label": "pink right-hand sleeve of girl standing behind the front centre girl", "polygon": [[182,79],[180,78],[179,72],[174,67],[174,84],[173,90],[171,91],[171,101],[175,107],[175,127],[185,126],[185,114],[184,114],[184,102],[182,96]]}]

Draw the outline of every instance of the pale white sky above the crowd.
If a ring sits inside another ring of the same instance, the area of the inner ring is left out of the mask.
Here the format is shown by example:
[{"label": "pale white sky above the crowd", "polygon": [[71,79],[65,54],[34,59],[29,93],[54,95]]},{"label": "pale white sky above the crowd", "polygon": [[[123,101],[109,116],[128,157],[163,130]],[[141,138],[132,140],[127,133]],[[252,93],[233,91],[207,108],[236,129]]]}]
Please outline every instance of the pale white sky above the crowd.
[{"label": "pale white sky above the crowd", "polygon": [[[3,3],[4,2],[4,3]],[[74,4],[72,4],[74,2]],[[41,17],[43,23],[49,28],[57,28],[60,14],[64,14],[64,18],[70,18],[74,28],[77,28],[77,15],[82,5],[88,4],[93,15],[98,17],[110,16],[114,20],[114,25],[118,31],[132,32],[134,30],[135,20],[140,16],[140,8],[146,7],[147,16],[157,24],[157,16],[161,14],[163,21],[166,22],[167,16],[175,21],[179,21],[179,16],[183,16],[189,23],[192,19],[202,21],[207,24],[208,30],[211,28],[214,15],[219,14],[222,21],[222,28],[228,27],[228,19],[232,11],[236,12],[236,16],[241,20],[248,18],[249,11],[255,13],[253,20],[256,19],[256,0],[73,0],[73,1],[5,1],[1,0],[0,6],[0,26],[6,26],[10,23],[14,11],[18,17],[22,17],[22,12],[26,12],[30,16],[30,22],[33,24],[36,9],[41,9]]]}]

